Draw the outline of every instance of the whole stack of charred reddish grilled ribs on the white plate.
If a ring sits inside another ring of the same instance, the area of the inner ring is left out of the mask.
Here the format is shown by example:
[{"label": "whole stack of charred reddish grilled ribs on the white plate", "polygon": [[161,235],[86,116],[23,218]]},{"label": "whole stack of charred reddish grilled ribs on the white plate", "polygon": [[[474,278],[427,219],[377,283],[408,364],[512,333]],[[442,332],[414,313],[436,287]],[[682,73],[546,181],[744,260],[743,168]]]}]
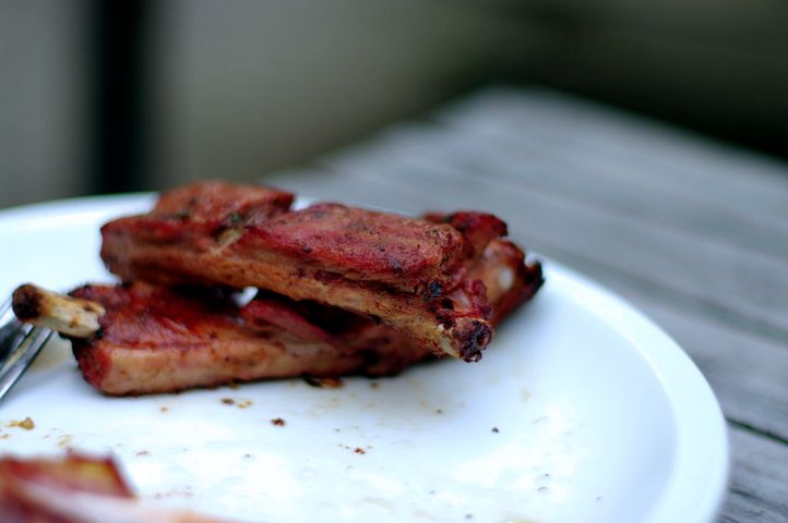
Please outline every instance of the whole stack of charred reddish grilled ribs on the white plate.
[{"label": "whole stack of charred reddish grilled ribs on the white plate", "polygon": [[[204,182],[107,223],[102,257],[127,282],[64,299],[23,285],[14,309],[73,341],[107,394],[311,375],[391,375],[429,353],[476,361],[492,327],[542,283],[492,215],[422,219]],[[234,292],[256,287],[240,307]]]}]

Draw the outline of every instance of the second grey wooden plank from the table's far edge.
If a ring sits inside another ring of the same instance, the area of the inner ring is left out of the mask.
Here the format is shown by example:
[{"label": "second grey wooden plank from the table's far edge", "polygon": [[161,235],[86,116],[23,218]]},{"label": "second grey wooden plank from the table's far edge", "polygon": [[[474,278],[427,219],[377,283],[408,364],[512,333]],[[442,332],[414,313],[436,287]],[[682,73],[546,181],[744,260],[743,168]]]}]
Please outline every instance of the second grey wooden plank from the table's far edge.
[{"label": "second grey wooden plank from the table's far edge", "polygon": [[512,136],[512,133],[488,133],[469,125],[453,127],[450,133],[437,133],[427,125],[410,125],[402,132],[387,133],[381,145],[387,151],[408,151],[397,160],[403,167],[416,157],[417,161],[454,166],[470,178],[483,179],[494,173],[604,207],[621,219],[646,218],[788,259],[788,227],[785,227],[788,224],[788,168],[783,192],[786,212],[766,219],[753,216],[745,205],[709,202],[705,193],[688,191],[683,184],[666,183],[660,172],[649,177],[632,173],[633,170],[647,171],[648,167],[609,162],[582,149],[556,150],[557,147],[557,144],[544,147],[539,141]]}]

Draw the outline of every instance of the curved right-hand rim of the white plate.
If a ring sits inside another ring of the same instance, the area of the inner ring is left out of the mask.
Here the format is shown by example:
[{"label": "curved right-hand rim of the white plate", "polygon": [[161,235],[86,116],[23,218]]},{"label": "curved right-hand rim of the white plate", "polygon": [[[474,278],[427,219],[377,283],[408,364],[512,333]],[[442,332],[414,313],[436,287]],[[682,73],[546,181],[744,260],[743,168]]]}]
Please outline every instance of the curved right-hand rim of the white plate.
[{"label": "curved right-hand rim of the white plate", "polygon": [[[586,311],[597,317],[613,313],[604,321],[644,357],[670,401],[677,457],[661,497],[645,521],[715,521],[728,491],[730,446],[725,416],[705,376],[667,331],[629,301],[582,272],[544,259],[548,276],[577,292],[580,301],[594,303]],[[681,401],[688,392],[693,401]]]}]

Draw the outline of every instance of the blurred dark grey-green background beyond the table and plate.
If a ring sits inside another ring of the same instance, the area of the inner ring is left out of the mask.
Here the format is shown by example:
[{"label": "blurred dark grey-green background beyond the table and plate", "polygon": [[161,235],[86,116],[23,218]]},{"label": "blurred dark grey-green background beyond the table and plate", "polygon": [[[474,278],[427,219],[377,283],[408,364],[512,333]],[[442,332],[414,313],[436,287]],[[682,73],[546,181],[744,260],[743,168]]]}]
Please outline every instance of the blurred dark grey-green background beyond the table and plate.
[{"label": "blurred dark grey-green background beyond the table and plate", "polygon": [[491,84],[788,157],[788,4],[4,0],[0,207],[264,179]]}]

